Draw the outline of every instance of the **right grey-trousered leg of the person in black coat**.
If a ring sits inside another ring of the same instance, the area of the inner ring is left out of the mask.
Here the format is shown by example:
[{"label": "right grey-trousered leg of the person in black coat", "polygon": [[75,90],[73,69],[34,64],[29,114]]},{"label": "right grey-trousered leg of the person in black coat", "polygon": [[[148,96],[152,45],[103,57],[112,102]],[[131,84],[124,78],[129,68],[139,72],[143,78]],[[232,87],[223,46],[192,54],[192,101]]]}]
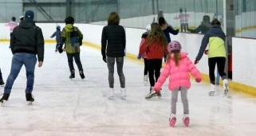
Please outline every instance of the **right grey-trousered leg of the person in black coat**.
[{"label": "right grey-trousered leg of the person in black coat", "polygon": [[116,57],[117,74],[120,80],[120,87],[125,88],[125,77],[123,72],[124,57]]}]

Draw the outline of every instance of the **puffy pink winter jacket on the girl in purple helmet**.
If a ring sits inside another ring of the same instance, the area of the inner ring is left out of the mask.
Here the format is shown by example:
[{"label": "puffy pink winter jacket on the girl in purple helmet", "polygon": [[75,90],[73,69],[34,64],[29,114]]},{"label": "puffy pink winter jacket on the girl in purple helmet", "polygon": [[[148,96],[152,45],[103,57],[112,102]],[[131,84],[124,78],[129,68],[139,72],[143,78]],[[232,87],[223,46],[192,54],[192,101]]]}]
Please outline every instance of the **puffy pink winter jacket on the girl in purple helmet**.
[{"label": "puffy pink winter jacket on the girl in purple helmet", "polygon": [[201,73],[195,67],[195,64],[187,56],[187,52],[180,52],[179,66],[175,65],[174,54],[171,54],[171,60],[165,64],[160,77],[158,78],[154,90],[159,91],[163,83],[169,77],[169,90],[176,87],[191,87],[189,72],[195,79],[202,80]]}]

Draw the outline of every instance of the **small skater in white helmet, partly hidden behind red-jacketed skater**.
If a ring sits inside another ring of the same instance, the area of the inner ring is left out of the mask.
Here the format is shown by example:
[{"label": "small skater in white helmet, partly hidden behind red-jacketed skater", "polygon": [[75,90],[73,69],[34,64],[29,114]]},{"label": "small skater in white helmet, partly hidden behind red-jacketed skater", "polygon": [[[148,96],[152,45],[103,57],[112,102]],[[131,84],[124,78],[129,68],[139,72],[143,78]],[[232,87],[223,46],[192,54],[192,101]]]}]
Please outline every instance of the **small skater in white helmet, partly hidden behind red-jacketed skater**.
[{"label": "small skater in white helmet, partly hidden behind red-jacketed skater", "polygon": [[[140,41],[140,47],[141,45],[144,44],[145,39],[148,37],[148,33],[150,33],[151,30],[151,25],[147,25],[146,26],[146,32],[142,34],[141,36],[141,41]],[[143,58],[144,60],[144,84],[148,83],[148,58],[146,55],[146,52],[144,52],[144,54],[138,54],[137,58],[140,60],[141,58]]]}]

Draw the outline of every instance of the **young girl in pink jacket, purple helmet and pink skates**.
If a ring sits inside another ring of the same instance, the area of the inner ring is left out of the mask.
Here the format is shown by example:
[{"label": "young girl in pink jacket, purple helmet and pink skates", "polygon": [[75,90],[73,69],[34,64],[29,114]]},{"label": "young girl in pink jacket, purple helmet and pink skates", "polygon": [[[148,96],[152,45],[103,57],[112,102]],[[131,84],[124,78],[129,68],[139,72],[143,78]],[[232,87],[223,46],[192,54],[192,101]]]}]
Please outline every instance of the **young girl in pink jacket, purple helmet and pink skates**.
[{"label": "young girl in pink jacket, purple helmet and pink skates", "polygon": [[170,126],[175,126],[176,122],[176,103],[178,98],[178,92],[180,91],[181,100],[183,103],[183,123],[185,126],[189,125],[189,110],[187,101],[187,90],[191,87],[190,76],[195,77],[196,82],[202,80],[201,73],[195,67],[195,64],[187,56],[187,52],[180,52],[181,45],[179,41],[171,41],[169,43],[171,52],[167,57],[167,63],[165,64],[160,77],[158,78],[152,95],[156,95],[160,91],[163,83],[169,77],[169,90],[171,90],[171,118]]}]

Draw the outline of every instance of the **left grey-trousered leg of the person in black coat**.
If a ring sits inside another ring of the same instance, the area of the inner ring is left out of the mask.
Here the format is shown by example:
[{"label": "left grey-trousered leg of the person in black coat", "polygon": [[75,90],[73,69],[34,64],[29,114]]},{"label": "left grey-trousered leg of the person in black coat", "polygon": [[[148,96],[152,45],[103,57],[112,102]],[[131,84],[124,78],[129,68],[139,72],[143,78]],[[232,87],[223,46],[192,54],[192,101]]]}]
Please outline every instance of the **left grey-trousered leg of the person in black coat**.
[{"label": "left grey-trousered leg of the person in black coat", "polygon": [[114,65],[115,65],[115,57],[107,57],[108,64],[108,84],[110,88],[114,87]]}]

